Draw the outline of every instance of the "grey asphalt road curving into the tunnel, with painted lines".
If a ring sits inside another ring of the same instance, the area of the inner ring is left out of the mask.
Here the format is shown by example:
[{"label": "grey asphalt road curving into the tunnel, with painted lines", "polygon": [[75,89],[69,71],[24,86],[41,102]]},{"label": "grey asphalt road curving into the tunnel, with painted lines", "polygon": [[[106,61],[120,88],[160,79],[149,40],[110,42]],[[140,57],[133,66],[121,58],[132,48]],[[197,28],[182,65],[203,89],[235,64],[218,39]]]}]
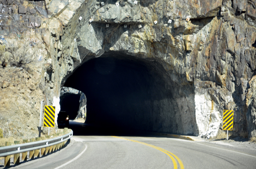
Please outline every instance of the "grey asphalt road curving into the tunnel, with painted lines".
[{"label": "grey asphalt road curving into the tunnel, with painted lines", "polygon": [[13,168],[256,168],[255,150],[177,138],[84,133],[85,126],[71,126],[76,134],[66,148]]}]

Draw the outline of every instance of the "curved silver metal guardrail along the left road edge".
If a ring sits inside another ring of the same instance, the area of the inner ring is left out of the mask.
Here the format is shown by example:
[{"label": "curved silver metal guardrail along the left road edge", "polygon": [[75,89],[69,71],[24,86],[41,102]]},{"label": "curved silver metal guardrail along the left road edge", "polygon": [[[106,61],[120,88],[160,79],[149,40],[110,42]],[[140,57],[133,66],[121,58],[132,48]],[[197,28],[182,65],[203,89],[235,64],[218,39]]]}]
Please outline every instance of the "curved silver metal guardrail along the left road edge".
[{"label": "curved silver metal guardrail along the left road edge", "polygon": [[12,154],[19,154],[28,151],[38,150],[42,148],[47,148],[50,146],[54,146],[60,143],[65,142],[66,140],[70,139],[73,136],[73,131],[69,132],[68,134],[58,136],[55,138],[40,140],[36,142],[18,144],[13,146],[5,146],[0,147],[0,157],[7,157]]}]

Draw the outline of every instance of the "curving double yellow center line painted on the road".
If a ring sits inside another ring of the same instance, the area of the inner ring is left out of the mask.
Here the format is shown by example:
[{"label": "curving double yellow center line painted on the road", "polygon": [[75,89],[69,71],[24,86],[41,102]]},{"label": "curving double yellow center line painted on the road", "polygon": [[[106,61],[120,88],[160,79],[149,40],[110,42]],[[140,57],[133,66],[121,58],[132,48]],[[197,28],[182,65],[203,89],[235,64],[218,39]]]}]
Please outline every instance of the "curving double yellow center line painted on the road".
[{"label": "curving double yellow center line painted on the road", "polygon": [[[167,154],[170,159],[172,159],[173,161],[173,164],[174,164],[174,169],[178,169],[178,165],[177,165],[177,162],[176,160],[178,161],[179,165],[180,165],[180,169],[184,169],[184,166],[183,166],[183,163],[182,161],[173,153],[171,152],[168,152],[160,147],[156,147],[156,146],[153,146],[153,145],[150,145],[150,144],[146,144],[146,143],[143,143],[143,142],[139,142],[139,141],[136,141],[136,140],[132,140],[132,139],[128,139],[128,138],[123,138],[123,137],[118,137],[118,136],[112,136],[112,137],[116,137],[116,138],[121,138],[121,139],[125,139],[125,140],[129,140],[131,142],[135,142],[135,143],[139,143],[139,144],[142,144],[142,145],[145,145],[145,146],[148,146],[148,147],[152,147],[154,149],[157,149],[165,154]],[[175,160],[176,159],[176,160]]]}]

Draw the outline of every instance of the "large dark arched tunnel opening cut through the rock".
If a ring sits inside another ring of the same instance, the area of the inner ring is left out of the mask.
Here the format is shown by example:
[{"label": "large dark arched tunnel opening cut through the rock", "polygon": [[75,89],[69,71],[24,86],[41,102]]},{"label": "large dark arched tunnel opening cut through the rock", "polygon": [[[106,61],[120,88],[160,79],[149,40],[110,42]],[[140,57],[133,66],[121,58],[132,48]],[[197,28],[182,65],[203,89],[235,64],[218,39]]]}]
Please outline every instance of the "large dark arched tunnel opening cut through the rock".
[{"label": "large dark arched tunnel opening cut through the rock", "polygon": [[[195,134],[195,118],[190,116],[195,106],[193,90],[189,85],[177,86],[168,77],[155,60],[111,52],[82,64],[64,86],[86,95],[88,124],[125,131]],[[182,106],[183,98],[189,97],[192,103]]]}]

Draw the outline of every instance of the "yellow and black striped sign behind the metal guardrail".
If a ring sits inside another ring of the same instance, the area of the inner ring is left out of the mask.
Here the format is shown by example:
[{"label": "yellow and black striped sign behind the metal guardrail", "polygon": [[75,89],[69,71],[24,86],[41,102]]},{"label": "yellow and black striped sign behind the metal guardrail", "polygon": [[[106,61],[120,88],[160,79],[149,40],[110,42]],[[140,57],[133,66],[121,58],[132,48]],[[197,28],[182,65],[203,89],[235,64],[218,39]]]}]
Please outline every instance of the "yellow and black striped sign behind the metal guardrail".
[{"label": "yellow and black striped sign behind the metal guardrail", "polygon": [[54,127],[55,106],[45,106],[44,127]]}]

